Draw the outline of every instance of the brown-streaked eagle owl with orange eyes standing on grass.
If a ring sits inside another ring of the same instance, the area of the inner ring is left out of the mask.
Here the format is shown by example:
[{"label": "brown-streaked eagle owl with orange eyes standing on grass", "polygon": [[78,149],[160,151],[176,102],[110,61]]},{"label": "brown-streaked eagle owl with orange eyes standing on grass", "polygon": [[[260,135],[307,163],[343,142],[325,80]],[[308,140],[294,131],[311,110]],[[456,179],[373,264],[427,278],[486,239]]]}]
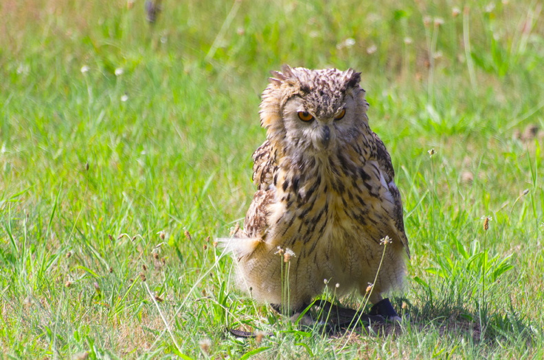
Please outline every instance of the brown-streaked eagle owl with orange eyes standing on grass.
[{"label": "brown-streaked eagle owl with orange eyes standing on grass", "polygon": [[[227,243],[238,284],[257,300],[300,311],[326,286],[364,295],[384,255],[370,298],[379,302],[400,285],[409,249],[361,73],[284,66],[272,74],[260,105],[267,140],[253,154],[258,191],[243,230]],[[392,243],[383,254],[385,237]],[[278,252],[291,254],[288,268]]]}]

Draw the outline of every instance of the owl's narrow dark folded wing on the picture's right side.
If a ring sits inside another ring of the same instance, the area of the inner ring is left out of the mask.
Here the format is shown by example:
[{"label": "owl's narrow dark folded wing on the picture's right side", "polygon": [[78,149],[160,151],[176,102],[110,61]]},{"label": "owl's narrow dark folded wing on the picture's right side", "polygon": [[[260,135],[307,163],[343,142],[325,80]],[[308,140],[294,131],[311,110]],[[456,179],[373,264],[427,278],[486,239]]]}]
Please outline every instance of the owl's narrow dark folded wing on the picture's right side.
[{"label": "owl's narrow dark folded wing on the picture's right side", "polygon": [[378,164],[384,171],[383,175],[385,182],[387,183],[387,192],[388,195],[390,195],[390,198],[387,199],[387,202],[390,202],[390,204],[384,204],[383,206],[385,211],[391,216],[392,230],[394,230],[398,239],[403,244],[408,257],[410,257],[408,238],[406,237],[404,228],[403,202],[400,199],[400,191],[398,191],[398,188],[394,182],[395,171],[393,169],[393,164],[391,163],[391,156],[389,156],[389,152],[387,152],[383,141],[378,138],[378,135],[372,132],[372,136],[374,137],[374,143],[376,144],[376,153],[374,154],[374,158],[376,161],[378,161]]}]

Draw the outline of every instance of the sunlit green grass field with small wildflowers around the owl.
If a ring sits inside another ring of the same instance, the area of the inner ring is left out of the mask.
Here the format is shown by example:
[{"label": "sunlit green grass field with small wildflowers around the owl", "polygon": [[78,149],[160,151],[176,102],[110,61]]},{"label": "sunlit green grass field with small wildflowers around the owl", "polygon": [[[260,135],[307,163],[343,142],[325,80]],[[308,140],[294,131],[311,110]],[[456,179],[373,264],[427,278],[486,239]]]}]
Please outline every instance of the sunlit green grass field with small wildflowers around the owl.
[{"label": "sunlit green grass field with small wildflowers around the owl", "polygon": [[[542,8],[1,1],[0,359],[544,358]],[[396,327],[303,331],[214,246],[285,63],[362,71],[413,254]]]}]

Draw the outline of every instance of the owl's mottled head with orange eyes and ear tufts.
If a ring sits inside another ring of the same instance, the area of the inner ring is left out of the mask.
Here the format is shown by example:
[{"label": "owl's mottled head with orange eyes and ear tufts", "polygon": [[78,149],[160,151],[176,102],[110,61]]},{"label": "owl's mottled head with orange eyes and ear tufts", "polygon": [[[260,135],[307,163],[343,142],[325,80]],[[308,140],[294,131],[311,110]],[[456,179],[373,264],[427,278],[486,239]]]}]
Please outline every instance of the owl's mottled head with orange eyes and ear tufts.
[{"label": "owl's mottled head with orange eyes and ear tufts", "polygon": [[262,93],[261,125],[284,155],[326,154],[368,128],[361,73],[287,65]]}]

